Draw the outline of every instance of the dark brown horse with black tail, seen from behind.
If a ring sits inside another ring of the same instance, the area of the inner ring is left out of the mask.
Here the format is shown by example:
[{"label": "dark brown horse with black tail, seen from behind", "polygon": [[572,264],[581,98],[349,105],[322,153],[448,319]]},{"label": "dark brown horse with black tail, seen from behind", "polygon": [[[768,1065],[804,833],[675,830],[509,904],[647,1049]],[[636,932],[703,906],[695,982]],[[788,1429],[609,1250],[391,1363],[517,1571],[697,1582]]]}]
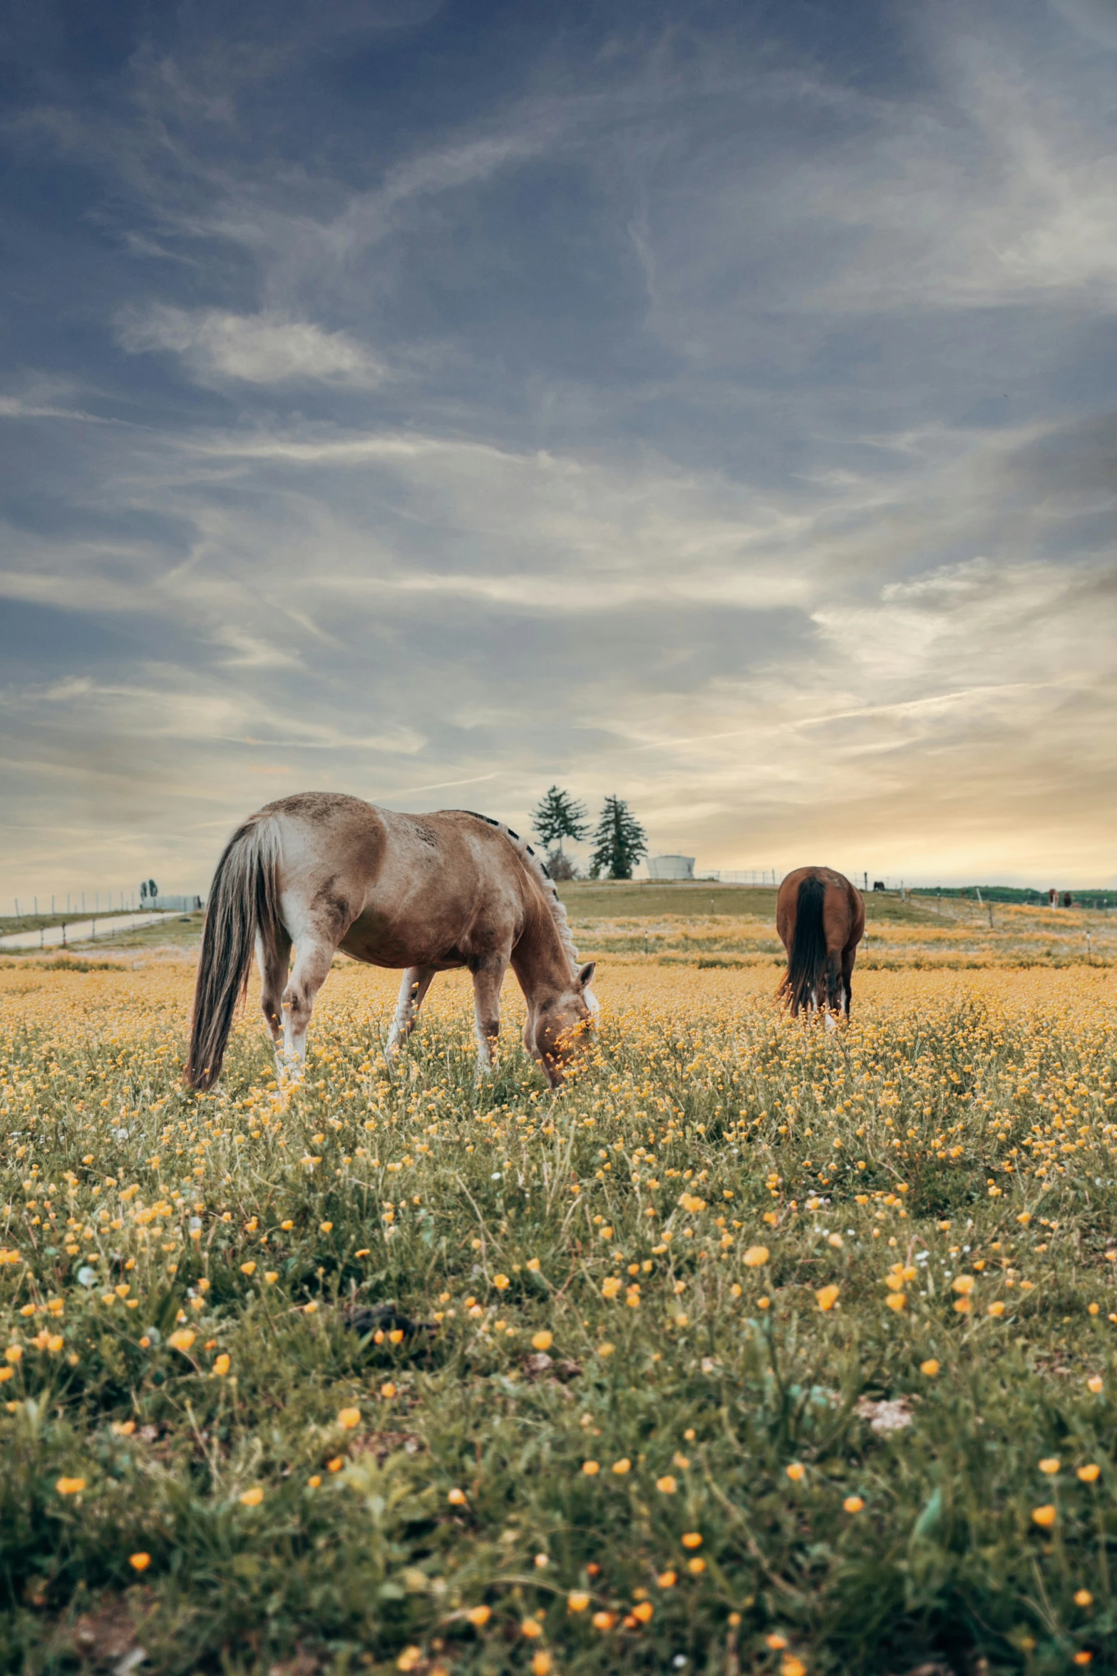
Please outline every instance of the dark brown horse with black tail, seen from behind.
[{"label": "dark brown horse with black tail, seen from behind", "polygon": [[787,950],[777,991],[800,1007],[827,1007],[849,1017],[852,969],[864,937],[864,900],[856,885],[831,866],[797,866],[775,898],[775,930]]}]

